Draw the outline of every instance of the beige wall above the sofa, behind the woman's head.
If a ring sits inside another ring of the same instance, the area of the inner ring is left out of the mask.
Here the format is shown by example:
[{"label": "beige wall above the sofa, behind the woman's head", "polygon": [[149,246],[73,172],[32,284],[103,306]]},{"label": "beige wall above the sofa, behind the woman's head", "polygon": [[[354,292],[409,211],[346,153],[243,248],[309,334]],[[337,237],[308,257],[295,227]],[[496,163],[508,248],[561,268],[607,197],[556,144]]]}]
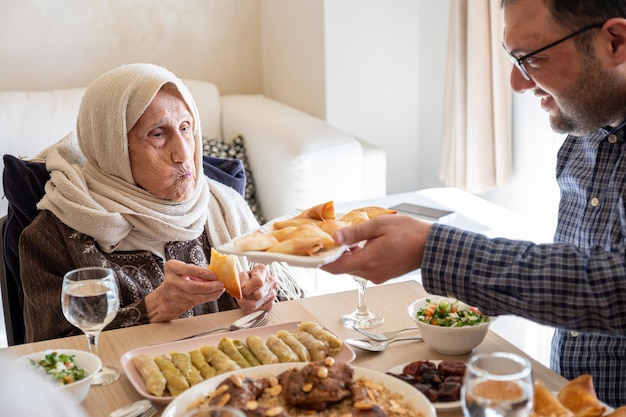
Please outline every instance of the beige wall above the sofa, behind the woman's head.
[{"label": "beige wall above the sofa, behind the woman's head", "polygon": [[0,89],[84,87],[152,62],[223,94],[261,92],[259,14],[259,0],[0,0]]}]

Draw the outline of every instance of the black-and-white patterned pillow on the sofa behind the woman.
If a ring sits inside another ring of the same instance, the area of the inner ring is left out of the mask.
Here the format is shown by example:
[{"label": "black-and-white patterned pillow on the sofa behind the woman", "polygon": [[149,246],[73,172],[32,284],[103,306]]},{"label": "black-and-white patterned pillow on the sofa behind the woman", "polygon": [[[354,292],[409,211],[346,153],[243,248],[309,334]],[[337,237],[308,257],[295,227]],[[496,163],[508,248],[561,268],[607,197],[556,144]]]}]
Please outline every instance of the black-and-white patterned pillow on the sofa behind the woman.
[{"label": "black-and-white patterned pillow on the sofa behind the woman", "polygon": [[250,210],[254,213],[259,224],[265,223],[265,218],[261,212],[261,206],[256,199],[256,190],[254,188],[254,180],[246,155],[246,148],[242,136],[236,136],[231,141],[223,139],[202,138],[202,150],[205,155],[218,158],[236,158],[241,160],[244,171],[246,173],[246,189],[244,198],[250,206]]}]

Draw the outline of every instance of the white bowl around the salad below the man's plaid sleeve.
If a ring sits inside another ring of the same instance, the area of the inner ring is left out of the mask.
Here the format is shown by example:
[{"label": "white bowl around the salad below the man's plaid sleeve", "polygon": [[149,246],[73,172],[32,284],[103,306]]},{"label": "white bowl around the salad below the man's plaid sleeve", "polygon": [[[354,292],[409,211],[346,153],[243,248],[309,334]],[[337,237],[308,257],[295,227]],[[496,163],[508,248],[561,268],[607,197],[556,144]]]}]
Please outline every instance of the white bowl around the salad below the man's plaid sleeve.
[{"label": "white bowl around the salad below the man's plaid sleeve", "polygon": [[[434,302],[455,301],[454,298],[449,297],[429,296],[426,298]],[[494,317],[490,317],[487,323],[463,327],[443,327],[424,323],[417,319],[417,312],[428,304],[426,298],[416,300],[409,305],[409,317],[417,323],[424,343],[446,355],[462,355],[480,345],[489,331],[489,325],[495,320]]]}]

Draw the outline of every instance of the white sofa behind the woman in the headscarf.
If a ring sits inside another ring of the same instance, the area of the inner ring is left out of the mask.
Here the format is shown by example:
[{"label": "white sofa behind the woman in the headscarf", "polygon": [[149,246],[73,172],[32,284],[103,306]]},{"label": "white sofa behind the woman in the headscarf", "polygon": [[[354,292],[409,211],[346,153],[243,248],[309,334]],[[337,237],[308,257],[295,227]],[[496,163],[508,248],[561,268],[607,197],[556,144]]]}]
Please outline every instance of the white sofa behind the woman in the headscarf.
[{"label": "white sofa behind the woman in the headscarf", "polygon": [[[272,219],[323,201],[386,193],[386,157],[322,119],[262,95],[220,96],[206,81],[185,80],[203,136],[242,135],[263,215]],[[0,91],[2,154],[32,158],[74,130],[84,89]],[[0,200],[0,216],[7,211]]]}]

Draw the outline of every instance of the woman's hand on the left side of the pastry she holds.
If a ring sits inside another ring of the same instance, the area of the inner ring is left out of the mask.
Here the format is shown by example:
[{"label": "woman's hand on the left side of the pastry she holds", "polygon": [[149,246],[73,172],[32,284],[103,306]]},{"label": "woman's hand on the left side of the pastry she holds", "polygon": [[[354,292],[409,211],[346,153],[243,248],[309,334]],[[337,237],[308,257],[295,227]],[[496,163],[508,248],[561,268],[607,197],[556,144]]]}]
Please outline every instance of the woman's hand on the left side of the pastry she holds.
[{"label": "woman's hand on the left side of the pastry she holds", "polygon": [[163,282],[145,298],[151,323],[174,320],[224,293],[224,284],[207,268],[170,259],[163,269]]}]

